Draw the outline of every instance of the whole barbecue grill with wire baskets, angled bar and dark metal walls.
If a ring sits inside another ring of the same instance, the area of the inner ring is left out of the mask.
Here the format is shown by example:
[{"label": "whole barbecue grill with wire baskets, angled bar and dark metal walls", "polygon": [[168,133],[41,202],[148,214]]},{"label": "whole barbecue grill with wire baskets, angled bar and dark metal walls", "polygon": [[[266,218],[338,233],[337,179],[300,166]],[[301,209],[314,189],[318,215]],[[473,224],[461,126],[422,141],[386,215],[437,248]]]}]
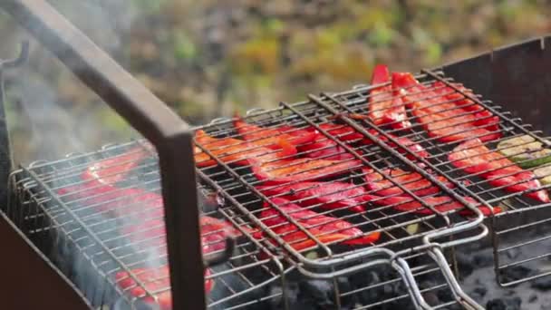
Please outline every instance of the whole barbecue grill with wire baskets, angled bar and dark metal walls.
[{"label": "whole barbecue grill with wire baskets, angled bar and dark metal walls", "polygon": [[[461,249],[490,248],[500,286],[515,287],[551,273],[543,267],[551,256],[549,204],[525,195],[549,186],[510,193],[477,173],[459,170],[449,160],[458,142],[430,137],[412,117],[407,133],[353,118],[367,113],[371,91],[381,85],[309,95],[304,102],[281,102],[275,109],[248,111],[243,118],[259,126],[260,133],[282,126],[292,128],[290,132],[314,129],[337,147],[346,173],[334,174],[325,184],[347,184],[346,189],[299,197],[294,203],[307,204],[305,208],[333,221],[346,220],[362,237],[380,236],[350,246],[313,234],[312,227],[277,202],[285,195],[275,189],[297,181],[268,184],[266,189],[266,182],[257,178],[253,160],[277,150],[255,147],[254,155],[239,157],[247,164],[225,160],[251,151],[247,148],[254,143],[241,140],[235,120],[190,128],[45,2],[10,0],[1,6],[146,138],[37,161],[3,176],[9,199],[2,204],[0,228],[14,248],[3,259],[14,264],[0,266],[5,266],[7,279],[21,281],[2,286],[8,298],[14,296],[8,300],[14,308],[166,308],[171,294],[175,309],[483,309],[459,281]],[[441,85],[498,116],[502,139],[529,135],[548,147],[545,138],[551,129],[545,117],[551,79],[545,68],[551,53],[546,44],[549,38],[539,38],[422,70],[416,78],[430,92],[441,91],[435,86]],[[0,69],[22,65],[23,47],[19,59],[4,62]],[[342,139],[325,124],[352,128],[360,140],[372,142]],[[197,131],[235,138],[235,145],[193,140]],[[429,155],[421,156],[403,138]],[[8,150],[7,141],[3,146]],[[206,155],[210,164],[199,161],[196,167],[194,151]],[[304,158],[307,153],[285,156]],[[4,171],[11,170],[5,166]],[[327,168],[298,170],[294,178],[323,174]],[[428,179],[430,187],[447,195],[446,203],[457,207],[427,203],[391,170]],[[369,208],[351,212],[365,204],[359,200],[362,193],[352,193],[366,186],[368,173],[378,173],[409,194],[417,207],[381,206],[374,200]],[[98,181],[83,175],[102,177]],[[301,190],[309,189],[291,189],[286,195],[297,197]],[[497,206],[500,212],[493,214]],[[266,210],[274,210],[293,229],[282,233],[280,224],[266,220]],[[205,232],[206,218],[227,224]],[[288,237],[297,233],[300,237]],[[28,270],[11,270],[23,257],[29,260]],[[528,266],[530,272],[518,272]],[[36,298],[20,300],[19,286],[27,285]],[[44,289],[48,287],[52,290]],[[52,298],[53,290],[57,298]]]}]

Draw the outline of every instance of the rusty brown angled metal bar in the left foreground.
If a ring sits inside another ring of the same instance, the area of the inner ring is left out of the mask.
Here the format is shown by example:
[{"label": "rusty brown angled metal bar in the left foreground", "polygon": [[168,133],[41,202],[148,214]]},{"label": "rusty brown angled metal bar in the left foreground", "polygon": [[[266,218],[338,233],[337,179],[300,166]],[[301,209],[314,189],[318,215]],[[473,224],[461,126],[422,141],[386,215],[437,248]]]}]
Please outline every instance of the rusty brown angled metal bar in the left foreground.
[{"label": "rusty brown angled metal bar in the left foreground", "polygon": [[189,125],[46,1],[5,0],[0,6],[155,145],[165,201],[173,306],[204,309],[203,260]]}]

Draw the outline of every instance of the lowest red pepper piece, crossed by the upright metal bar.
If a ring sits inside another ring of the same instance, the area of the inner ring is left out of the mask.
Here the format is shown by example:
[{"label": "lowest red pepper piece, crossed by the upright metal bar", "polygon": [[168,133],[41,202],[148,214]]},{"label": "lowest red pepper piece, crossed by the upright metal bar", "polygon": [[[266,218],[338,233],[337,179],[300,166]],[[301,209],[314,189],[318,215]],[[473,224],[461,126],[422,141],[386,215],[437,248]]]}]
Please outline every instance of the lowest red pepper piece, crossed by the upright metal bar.
[{"label": "lowest red pepper piece, crossed by the upright metal bar", "polygon": [[[159,266],[151,268],[136,268],[131,270],[131,274],[136,276],[145,287],[140,286],[134,281],[128,272],[122,271],[115,275],[117,285],[121,290],[132,297],[140,298],[143,302],[150,305],[159,306],[160,310],[172,309],[172,295],[170,292],[169,266]],[[210,276],[210,270],[205,269],[205,276]],[[214,286],[213,279],[205,280],[205,291],[209,293]],[[144,289],[145,288],[145,289]],[[146,289],[150,292],[164,290],[153,296],[147,295]]]}]

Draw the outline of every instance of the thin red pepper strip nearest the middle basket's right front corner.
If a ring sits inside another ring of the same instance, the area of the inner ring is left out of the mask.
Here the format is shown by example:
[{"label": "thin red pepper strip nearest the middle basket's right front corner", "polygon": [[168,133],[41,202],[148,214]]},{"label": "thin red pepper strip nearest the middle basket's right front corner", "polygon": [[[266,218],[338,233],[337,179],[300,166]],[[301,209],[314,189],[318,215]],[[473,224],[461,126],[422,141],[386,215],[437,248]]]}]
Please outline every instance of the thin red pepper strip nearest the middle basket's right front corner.
[{"label": "thin red pepper strip nearest the middle basket's right front corner", "polygon": [[[449,196],[423,197],[420,199],[423,202],[425,202],[427,205],[433,207],[435,210],[442,213],[455,210],[455,209],[461,209],[459,210],[460,215],[463,215],[463,216],[472,215],[472,211],[470,211],[468,208],[465,208],[459,201],[455,199],[451,199]],[[470,197],[465,197],[464,199],[466,199],[469,203],[472,203],[474,205],[478,204],[474,199],[471,199]],[[392,208],[401,212],[414,212],[422,215],[430,215],[433,213],[430,208],[425,208],[418,200],[413,199],[412,197],[372,196],[372,202],[381,206],[391,206]],[[478,209],[480,209],[482,214],[484,214],[485,216],[489,216],[492,214],[492,210],[486,206],[479,206]],[[494,214],[499,213],[501,212],[501,208],[494,207],[493,212]]]}]

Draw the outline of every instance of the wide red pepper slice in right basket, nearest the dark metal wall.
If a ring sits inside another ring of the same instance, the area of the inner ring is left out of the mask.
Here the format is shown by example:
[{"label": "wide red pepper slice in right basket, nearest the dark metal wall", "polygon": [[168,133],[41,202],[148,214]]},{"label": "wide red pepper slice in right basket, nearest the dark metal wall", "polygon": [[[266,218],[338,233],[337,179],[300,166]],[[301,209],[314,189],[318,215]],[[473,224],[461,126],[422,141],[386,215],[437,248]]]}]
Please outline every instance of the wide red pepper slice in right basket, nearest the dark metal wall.
[{"label": "wide red pepper slice in right basket, nearest the dark metal wall", "polygon": [[442,96],[441,92],[420,84],[411,73],[392,73],[392,87],[403,88],[404,101],[431,137],[442,142],[471,138],[495,140],[501,137],[500,132],[490,131],[495,128],[495,124],[481,126],[476,113],[448,102],[449,99]]}]

